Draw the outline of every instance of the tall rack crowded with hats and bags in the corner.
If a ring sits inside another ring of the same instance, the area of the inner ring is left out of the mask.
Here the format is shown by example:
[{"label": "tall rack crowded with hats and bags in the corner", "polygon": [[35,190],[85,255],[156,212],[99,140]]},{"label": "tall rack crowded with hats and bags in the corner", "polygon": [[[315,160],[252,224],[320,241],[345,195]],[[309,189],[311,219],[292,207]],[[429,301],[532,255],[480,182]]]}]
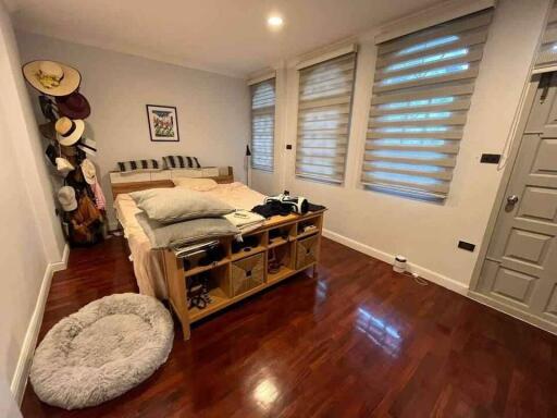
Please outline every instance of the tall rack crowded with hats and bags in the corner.
[{"label": "tall rack crowded with hats and bags in the corner", "polygon": [[30,61],[22,67],[25,81],[39,93],[44,116],[47,165],[59,184],[57,208],[66,239],[73,246],[88,246],[108,236],[106,200],[90,157],[96,142],[86,136],[84,122],[91,112],[81,93],[82,75],[73,66],[55,61]]}]

